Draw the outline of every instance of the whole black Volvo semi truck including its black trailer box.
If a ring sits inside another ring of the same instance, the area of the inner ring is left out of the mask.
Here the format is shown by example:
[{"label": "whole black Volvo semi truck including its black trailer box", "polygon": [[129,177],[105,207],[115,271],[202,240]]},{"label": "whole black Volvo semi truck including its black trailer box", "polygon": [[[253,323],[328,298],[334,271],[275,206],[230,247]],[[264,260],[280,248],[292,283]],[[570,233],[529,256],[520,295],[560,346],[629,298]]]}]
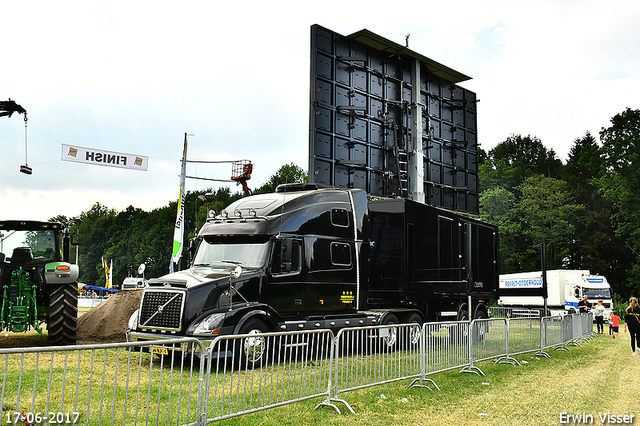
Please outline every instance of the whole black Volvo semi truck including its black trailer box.
[{"label": "whole black Volvo semi truck including its black trailer box", "polygon": [[281,185],[198,236],[188,270],[149,280],[128,340],[482,318],[498,287],[496,226],[361,189]]}]

